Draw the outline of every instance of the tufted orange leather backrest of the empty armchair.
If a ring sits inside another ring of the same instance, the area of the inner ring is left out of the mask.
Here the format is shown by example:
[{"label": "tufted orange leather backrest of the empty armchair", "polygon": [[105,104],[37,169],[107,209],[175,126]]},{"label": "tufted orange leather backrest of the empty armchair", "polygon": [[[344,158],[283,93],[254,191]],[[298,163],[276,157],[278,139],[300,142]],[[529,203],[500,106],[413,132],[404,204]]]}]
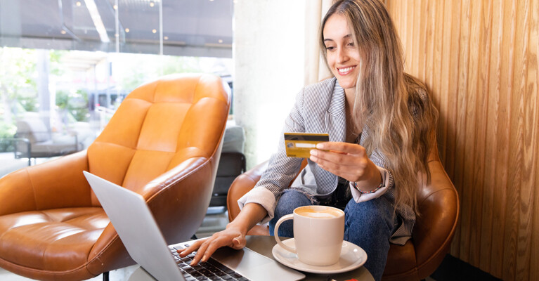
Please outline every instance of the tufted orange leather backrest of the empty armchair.
[{"label": "tufted orange leather backrest of the empty armchair", "polygon": [[[211,157],[228,100],[221,79],[209,74],[175,74],[138,87],[88,148],[90,172],[141,193],[184,160]],[[93,194],[91,200],[99,204]]]}]

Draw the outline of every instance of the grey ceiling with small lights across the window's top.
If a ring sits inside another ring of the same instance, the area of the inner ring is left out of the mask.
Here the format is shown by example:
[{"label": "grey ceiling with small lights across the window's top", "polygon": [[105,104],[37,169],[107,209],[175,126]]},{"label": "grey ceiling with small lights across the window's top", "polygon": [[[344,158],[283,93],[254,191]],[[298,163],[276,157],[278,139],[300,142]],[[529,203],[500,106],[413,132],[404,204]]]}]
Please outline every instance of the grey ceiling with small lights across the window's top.
[{"label": "grey ceiling with small lights across the window's top", "polygon": [[231,58],[232,18],[233,0],[0,0],[0,46]]}]

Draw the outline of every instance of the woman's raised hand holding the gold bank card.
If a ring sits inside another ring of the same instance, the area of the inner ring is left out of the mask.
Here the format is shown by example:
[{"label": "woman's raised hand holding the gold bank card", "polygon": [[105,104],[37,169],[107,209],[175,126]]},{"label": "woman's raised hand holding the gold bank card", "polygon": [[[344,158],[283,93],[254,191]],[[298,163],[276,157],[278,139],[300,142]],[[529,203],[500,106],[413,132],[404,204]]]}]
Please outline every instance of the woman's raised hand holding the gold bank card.
[{"label": "woman's raised hand holding the gold bank card", "polygon": [[365,148],[356,143],[318,143],[309,159],[336,176],[355,181],[365,191],[382,182],[377,166],[370,161]]}]

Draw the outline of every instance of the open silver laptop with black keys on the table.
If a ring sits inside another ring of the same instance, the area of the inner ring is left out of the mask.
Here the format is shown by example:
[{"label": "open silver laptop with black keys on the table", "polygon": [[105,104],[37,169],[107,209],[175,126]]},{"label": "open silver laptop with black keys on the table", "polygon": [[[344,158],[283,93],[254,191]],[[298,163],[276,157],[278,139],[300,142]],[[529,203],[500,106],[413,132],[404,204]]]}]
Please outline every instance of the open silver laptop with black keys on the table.
[{"label": "open silver laptop with black keys on the table", "polygon": [[[141,195],[103,178],[84,171],[86,180],[110,218],[129,255],[155,280],[204,280],[204,276],[193,277],[189,273],[188,261],[184,262],[176,254],[176,249],[188,247],[193,241],[186,241],[167,247],[167,243]],[[188,237],[186,237],[188,239]],[[228,247],[218,249],[207,266],[220,268],[219,274],[207,280],[301,280],[303,273],[287,268],[273,259],[244,248],[234,250]],[[187,270],[187,272],[186,272]],[[198,274],[198,273],[197,273]],[[207,276],[207,273],[203,273]],[[196,275],[196,274],[195,274]],[[233,277],[233,278],[229,278]],[[150,278],[149,280],[151,280]],[[140,280],[140,278],[139,278]]]}]

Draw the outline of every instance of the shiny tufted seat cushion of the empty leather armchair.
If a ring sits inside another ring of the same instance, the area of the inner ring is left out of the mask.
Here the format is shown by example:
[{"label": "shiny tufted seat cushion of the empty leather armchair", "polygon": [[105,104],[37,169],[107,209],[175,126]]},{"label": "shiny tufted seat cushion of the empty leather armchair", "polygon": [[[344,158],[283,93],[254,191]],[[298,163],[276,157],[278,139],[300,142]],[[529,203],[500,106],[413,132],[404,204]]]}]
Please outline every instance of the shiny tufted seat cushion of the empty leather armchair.
[{"label": "shiny tufted seat cushion of the empty leather armchair", "polygon": [[[98,207],[25,211],[1,217],[1,258],[43,270],[69,270],[86,263],[109,220]],[[32,249],[21,251],[32,245]],[[66,249],[72,249],[67,252]]]}]

